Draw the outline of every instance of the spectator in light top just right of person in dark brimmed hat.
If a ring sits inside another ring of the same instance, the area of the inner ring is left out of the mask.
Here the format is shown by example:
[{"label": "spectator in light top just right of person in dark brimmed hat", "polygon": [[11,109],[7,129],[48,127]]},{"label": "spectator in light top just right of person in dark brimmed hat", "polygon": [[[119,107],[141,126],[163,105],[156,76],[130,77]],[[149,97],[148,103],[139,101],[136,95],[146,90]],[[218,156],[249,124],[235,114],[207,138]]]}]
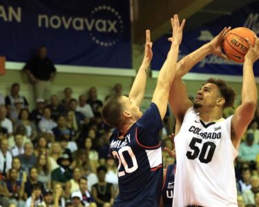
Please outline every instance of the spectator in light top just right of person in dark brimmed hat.
[{"label": "spectator in light top just right of person in dark brimmed hat", "polygon": [[81,169],[74,168],[72,179],[66,182],[66,197],[69,198],[70,195],[79,189],[79,179],[81,177]]}]

